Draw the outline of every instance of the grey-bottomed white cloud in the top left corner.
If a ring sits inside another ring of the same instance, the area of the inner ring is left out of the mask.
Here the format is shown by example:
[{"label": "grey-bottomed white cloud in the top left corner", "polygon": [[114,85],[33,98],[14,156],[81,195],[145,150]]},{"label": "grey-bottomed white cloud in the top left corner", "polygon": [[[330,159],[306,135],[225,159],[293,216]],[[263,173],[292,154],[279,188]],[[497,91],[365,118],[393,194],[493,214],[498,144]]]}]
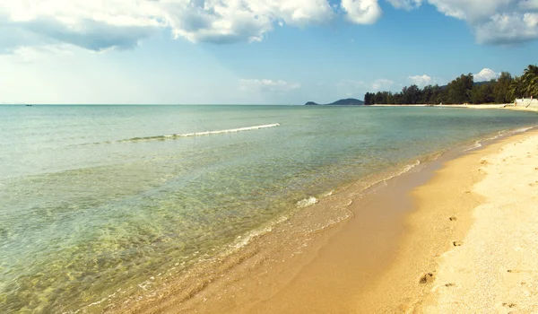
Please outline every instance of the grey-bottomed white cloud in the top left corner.
[{"label": "grey-bottomed white cloud in the top left corner", "polygon": [[164,25],[153,13],[145,1],[109,0],[105,6],[91,0],[0,0],[0,37],[11,39],[2,40],[2,48],[62,43],[133,48]]}]

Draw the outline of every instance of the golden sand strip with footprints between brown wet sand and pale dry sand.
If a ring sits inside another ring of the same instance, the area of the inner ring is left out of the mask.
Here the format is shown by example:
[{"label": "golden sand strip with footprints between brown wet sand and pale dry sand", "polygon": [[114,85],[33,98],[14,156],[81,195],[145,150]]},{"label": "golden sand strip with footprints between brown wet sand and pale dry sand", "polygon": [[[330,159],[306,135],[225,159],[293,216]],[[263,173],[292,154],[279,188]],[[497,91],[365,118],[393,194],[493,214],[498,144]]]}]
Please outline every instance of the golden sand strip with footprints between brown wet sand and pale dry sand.
[{"label": "golden sand strip with footprints between brown wet sand and pale dry sand", "polygon": [[[399,244],[397,261],[376,286],[361,295],[361,300],[369,301],[371,312],[458,312],[446,304],[439,310],[438,293],[458,284],[448,279],[450,275],[444,275],[450,267],[444,265],[443,259],[465,245],[466,235],[476,223],[475,208],[486,202],[486,197],[474,188],[487,176],[484,158],[530,136],[538,137],[538,131],[510,135],[464,153],[445,162],[427,184],[412,190],[415,209],[405,219],[407,232]],[[470,274],[465,275],[474,280]],[[455,298],[459,297],[462,295],[456,292]],[[380,308],[379,304],[384,306]],[[480,312],[464,312],[477,311]]]}]

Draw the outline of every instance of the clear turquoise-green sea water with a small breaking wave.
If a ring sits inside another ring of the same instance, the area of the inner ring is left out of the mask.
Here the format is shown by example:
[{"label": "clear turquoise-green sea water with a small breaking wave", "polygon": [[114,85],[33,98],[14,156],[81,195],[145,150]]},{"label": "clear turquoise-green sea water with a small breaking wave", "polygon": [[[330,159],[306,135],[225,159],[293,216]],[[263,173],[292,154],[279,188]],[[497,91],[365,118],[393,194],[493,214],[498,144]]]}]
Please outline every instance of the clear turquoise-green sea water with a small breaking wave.
[{"label": "clear turquoise-green sea water with a small breaking wave", "polygon": [[535,125],[494,109],[0,107],[0,312],[102,310],[88,305],[310,196]]}]

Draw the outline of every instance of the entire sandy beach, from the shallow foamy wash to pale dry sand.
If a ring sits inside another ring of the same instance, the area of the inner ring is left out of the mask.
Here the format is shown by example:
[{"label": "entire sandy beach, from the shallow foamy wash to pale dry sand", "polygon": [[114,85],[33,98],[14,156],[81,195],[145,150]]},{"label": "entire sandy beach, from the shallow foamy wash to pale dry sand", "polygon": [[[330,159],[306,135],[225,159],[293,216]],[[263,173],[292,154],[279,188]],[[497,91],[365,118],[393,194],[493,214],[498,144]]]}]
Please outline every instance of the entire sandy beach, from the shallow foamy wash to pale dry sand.
[{"label": "entire sandy beach, from the shallow foamy wash to pale dry sand", "polygon": [[[371,195],[351,187],[255,237],[187,296],[178,290],[119,311],[536,311],[537,154],[532,130],[447,154]],[[313,229],[305,242],[280,238],[344,203],[346,222]]]}]

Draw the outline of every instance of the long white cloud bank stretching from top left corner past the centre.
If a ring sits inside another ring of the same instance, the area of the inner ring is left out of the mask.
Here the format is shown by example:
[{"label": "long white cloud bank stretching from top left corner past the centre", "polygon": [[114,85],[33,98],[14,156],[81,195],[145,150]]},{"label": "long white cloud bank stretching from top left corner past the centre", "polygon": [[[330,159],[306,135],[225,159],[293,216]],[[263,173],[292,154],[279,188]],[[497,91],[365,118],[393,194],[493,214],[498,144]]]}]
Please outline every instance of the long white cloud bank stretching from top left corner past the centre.
[{"label": "long white cloud bank stretching from top left corner past the centre", "polygon": [[162,29],[192,42],[259,41],[274,24],[305,26],[333,17],[326,0],[0,0],[0,49],[58,43],[134,48]]}]

